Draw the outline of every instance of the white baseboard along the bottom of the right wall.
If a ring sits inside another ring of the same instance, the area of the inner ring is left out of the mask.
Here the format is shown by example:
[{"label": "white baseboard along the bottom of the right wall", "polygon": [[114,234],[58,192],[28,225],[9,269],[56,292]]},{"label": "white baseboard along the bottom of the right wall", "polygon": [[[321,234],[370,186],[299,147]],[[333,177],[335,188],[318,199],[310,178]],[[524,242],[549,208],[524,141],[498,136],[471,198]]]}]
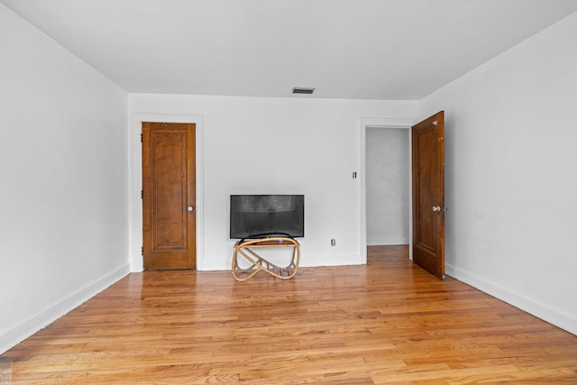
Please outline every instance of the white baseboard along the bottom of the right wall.
[{"label": "white baseboard along the bottom of the right wall", "polygon": [[527,298],[519,293],[511,291],[510,289],[483,280],[474,274],[455,268],[453,265],[445,265],[444,270],[446,275],[451,276],[454,279],[461,280],[475,289],[480,289],[490,296],[499,298],[500,300],[507,302],[509,305],[518,307],[519,309],[541,318],[552,325],[558,326],[573,335],[577,335],[576,315],[571,315],[560,309],[548,307],[533,298]]}]

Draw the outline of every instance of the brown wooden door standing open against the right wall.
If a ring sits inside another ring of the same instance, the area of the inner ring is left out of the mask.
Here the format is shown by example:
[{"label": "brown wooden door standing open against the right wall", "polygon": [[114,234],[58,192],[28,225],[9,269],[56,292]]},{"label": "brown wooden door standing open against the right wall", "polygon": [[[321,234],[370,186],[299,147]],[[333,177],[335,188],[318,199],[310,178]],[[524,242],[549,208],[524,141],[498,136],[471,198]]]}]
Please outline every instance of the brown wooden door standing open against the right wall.
[{"label": "brown wooden door standing open against the right wall", "polygon": [[412,128],[413,261],[444,279],[444,111]]}]

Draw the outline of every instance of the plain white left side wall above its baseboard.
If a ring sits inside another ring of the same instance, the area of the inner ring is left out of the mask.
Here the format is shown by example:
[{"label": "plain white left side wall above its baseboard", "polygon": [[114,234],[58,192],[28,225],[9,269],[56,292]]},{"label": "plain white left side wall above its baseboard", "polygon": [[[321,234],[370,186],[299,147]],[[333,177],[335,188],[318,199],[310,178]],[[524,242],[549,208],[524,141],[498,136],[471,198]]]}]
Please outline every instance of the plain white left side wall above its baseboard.
[{"label": "plain white left side wall above its baseboard", "polygon": [[127,95],[0,5],[0,353],[128,271]]}]

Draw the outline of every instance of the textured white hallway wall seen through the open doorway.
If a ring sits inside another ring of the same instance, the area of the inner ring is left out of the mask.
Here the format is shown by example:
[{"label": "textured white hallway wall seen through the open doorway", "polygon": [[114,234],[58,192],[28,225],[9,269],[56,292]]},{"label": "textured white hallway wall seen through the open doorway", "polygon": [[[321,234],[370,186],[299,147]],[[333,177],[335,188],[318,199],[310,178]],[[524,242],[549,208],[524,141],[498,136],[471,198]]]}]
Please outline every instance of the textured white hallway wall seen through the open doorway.
[{"label": "textured white hallway wall seen through the open doorway", "polygon": [[367,244],[408,244],[409,130],[370,127],[366,135]]}]

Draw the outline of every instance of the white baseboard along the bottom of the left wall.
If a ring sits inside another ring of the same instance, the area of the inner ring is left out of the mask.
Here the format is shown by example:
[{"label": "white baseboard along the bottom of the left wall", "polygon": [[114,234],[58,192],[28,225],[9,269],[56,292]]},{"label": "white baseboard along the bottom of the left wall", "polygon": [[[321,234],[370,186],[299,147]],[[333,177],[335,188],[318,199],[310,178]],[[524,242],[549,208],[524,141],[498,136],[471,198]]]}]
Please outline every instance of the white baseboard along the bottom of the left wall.
[{"label": "white baseboard along the bottom of the left wall", "polygon": [[50,307],[36,313],[22,323],[8,329],[0,335],[0,354],[7,352],[15,345],[20,344],[26,338],[50,325],[70,310],[82,305],[88,299],[93,298],[102,290],[108,288],[129,273],[129,265],[126,264],[118,270],[114,270],[104,277],[88,283],[86,286],[62,298]]}]

